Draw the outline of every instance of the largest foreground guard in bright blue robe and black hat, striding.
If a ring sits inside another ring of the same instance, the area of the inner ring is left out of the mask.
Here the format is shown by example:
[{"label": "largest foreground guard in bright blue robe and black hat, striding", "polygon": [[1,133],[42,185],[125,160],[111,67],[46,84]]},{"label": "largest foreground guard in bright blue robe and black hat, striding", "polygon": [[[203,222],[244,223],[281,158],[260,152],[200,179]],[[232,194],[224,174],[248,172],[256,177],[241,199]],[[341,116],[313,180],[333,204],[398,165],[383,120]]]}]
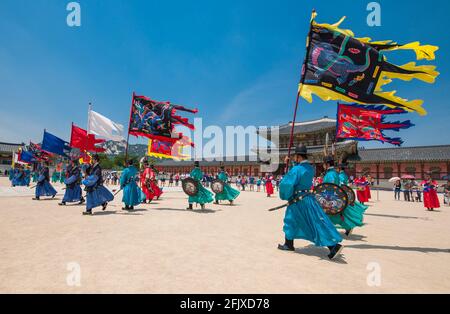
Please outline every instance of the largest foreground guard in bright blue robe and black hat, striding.
[{"label": "largest foreground guard in bright blue robe and black hat, striding", "polygon": [[[278,249],[295,251],[294,240],[303,239],[328,247],[328,257],[333,259],[343,249],[339,244],[342,237],[310,191],[315,170],[307,158],[306,146],[297,147],[294,166],[280,183],[280,197],[290,205],[284,217],[285,244]],[[289,164],[290,160],[286,162]]]}]

